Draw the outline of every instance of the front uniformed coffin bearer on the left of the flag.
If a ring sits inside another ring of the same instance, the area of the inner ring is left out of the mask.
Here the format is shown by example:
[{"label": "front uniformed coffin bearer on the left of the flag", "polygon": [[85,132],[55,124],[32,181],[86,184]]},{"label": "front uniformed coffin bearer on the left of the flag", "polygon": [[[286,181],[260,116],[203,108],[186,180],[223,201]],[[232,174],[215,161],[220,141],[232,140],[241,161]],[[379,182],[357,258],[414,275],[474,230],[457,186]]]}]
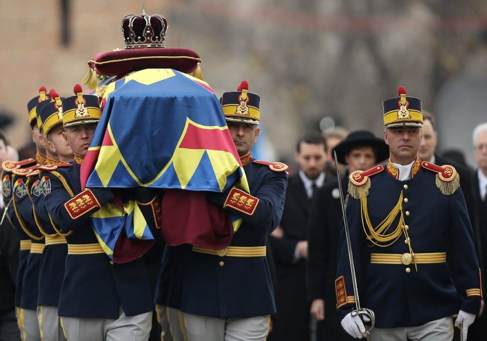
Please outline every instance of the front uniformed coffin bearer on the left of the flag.
[{"label": "front uniformed coffin bearer on the left of the flag", "polygon": [[88,220],[114,195],[108,189],[81,190],[80,167],[101,112],[98,97],[83,95],[79,85],[74,91],[62,101],[72,166],[46,166],[49,172],[40,174],[48,177],[42,186],[46,210],[68,242],[58,314],[70,341],[147,340],[153,305],[143,260],[110,261]]}]

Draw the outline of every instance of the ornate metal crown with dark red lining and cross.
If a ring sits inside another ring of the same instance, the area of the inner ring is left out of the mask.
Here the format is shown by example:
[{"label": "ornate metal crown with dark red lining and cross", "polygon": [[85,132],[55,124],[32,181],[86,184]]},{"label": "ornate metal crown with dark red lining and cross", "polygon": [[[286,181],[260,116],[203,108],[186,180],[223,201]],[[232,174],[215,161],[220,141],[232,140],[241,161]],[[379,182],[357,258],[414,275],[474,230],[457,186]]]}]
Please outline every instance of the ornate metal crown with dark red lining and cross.
[{"label": "ornate metal crown with dark red lining and cross", "polygon": [[125,39],[125,49],[164,47],[167,21],[159,14],[145,13],[146,4],[142,3],[142,14],[127,14],[122,19],[121,29]]}]

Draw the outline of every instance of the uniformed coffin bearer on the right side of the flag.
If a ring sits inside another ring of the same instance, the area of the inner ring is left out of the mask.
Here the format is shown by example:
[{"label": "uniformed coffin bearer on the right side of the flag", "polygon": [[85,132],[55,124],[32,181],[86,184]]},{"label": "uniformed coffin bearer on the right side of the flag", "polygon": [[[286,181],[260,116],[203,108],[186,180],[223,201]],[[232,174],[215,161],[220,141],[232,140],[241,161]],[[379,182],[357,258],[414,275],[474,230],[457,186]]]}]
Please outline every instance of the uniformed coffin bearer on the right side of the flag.
[{"label": "uniformed coffin bearer on the right side of the flag", "polygon": [[184,324],[171,320],[171,329],[182,328],[185,340],[265,340],[275,312],[265,245],[282,215],[287,166],[250,155],[259,135],[260,98],[247,90],[244,81],[221,102],[250,195],[236,187],[207,195],[209,202],[236,213],[242,226],[224,249],[185,244],[174,256],[167,305],[180,309]]}]

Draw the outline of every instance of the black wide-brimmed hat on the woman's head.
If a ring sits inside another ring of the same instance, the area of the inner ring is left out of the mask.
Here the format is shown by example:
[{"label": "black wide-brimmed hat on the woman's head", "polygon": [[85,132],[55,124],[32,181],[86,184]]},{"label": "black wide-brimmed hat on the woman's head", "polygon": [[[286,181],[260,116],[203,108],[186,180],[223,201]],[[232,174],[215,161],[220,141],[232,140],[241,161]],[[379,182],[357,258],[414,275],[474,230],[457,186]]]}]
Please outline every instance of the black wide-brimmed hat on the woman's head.
[{"label": "black wide-brimmed hat on the woman's head", "polygon": [[389,157],[389,146],[385,144],[384,139],[375,137],[374,134],[367,130],[355,130],[333,149],[337,153],[337,161],[347,164],[345,155],[357,147],[372,147],[377,156],[376,163]]}]

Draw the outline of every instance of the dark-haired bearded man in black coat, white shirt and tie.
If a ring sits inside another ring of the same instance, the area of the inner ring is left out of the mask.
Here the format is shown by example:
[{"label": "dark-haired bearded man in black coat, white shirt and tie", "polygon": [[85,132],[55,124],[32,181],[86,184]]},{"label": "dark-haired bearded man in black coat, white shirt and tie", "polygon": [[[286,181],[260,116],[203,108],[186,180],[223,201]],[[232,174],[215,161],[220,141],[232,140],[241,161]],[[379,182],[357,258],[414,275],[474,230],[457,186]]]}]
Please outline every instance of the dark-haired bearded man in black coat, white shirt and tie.
[{"label": "dark-haired bearded man in black coat, white shirt and tie", "polygon": [[282,219],[269,237],[277,277],[277,317],[269,334],[270,341],[310,338],[306,223],[314,189],[331,181],[324,172],[326,151],[326,141],[318,132],[307,133],[296,145],[295,160],[299,170],[289,176]]}]

